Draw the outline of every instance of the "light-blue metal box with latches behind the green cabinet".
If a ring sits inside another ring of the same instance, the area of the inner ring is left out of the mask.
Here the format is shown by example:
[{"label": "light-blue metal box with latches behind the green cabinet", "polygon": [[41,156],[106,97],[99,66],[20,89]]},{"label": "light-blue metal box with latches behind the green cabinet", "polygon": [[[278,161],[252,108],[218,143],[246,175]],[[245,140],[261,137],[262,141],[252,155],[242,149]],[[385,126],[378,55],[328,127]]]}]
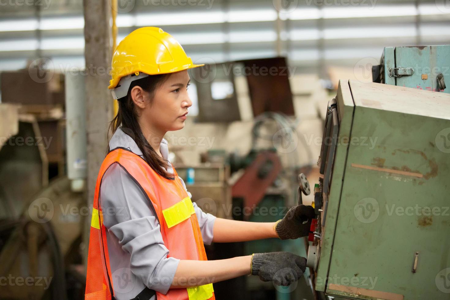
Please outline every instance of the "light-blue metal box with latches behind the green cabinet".
[{"label": "light-blue metal box with latches behind the green cabinet", "polygon": [[373,81],[450,93],[450,45],[386,47]]}]

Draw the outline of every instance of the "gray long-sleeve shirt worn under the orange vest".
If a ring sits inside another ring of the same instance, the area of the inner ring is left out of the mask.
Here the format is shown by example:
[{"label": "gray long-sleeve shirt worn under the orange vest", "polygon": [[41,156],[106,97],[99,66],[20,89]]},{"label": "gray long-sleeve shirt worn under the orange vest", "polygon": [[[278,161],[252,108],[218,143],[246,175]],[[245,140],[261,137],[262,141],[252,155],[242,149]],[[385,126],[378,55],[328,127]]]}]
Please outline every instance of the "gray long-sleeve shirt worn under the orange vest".
[{"label": "gray long-sleeve shirt worn under the orange vest", "polygon": [[[109,141],[110,149],[117,147],[128,148],[142,156],[135,141],[121,128],[117,129]],[[162,139],[160,152],[168,160],[165,139]],[[173,173],[172,168],[167,171]],[[183,179],[180,180],[186,188]],[[189,192],[188,195],[191,197]],[[166,294],[180,260],[167,257],[169,250],[164,246],[160,225],[151,204],[135,181],[118,164],[110,166],[103,175],[99,205],[103,211],[103,225],[108,229],[106,237],[116,299],[132,299],[145,286]],[[193,206],[203,242],[210,245],[216,217],[203,212],[195,202]],[[154,299],[155,296],[151,298]]]}]

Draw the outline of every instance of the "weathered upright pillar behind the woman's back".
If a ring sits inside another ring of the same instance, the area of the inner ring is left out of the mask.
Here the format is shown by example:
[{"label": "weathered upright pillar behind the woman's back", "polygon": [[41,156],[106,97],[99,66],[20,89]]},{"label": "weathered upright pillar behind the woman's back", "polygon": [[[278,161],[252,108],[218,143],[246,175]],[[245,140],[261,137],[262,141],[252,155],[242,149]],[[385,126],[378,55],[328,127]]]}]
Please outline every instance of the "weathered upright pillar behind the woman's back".
[{"label": "weathered upright pillar behind the woman's back", "polygon": [[[92,207],[100,165],[108,148],[108,124],[113,117],[113,99],[108,90],[112,58],[111,0],[83,0],[85,19],[87,206]],[[83,241],[87,260],[90,216]]]}]

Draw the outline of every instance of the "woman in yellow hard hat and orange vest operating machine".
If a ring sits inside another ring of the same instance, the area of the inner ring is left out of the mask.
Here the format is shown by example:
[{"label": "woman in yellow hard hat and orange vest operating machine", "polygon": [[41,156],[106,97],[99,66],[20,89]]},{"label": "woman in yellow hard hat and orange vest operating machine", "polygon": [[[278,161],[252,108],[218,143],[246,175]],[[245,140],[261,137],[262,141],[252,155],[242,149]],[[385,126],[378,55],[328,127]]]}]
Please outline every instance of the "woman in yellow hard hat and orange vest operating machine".
[{"label": "woman in yellow hard hat and orange vest operating machine", "polygon": [[95,188],[87,300],[215,299],[213,282],[252,274],[285,286],[305,271],[305,258],[288,252],[207,260],[203,243],[306,236],[314,209],[256,223],[216,218],[191,201],[163,136],[184,127],[187,69],[200,66],[157,27],[131,32],[115,49],[108,88],[119,109]]}]

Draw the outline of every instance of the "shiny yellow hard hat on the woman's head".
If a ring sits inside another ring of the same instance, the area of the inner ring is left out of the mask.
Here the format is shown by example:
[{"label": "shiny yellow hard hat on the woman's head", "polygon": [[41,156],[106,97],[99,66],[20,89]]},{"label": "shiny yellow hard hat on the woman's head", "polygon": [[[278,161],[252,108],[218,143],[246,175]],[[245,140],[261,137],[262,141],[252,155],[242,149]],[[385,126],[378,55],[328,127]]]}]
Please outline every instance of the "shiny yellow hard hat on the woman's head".
[{"label": "shiny yellow hard hat on the woman's head", "polygon": [[[135,75],[132,80],[136,80],[144,74],[147,76],[173,73],[201,66],[204,64],[194,64],[180,43],[161,28],[142,27],[131,32],[117,45],[112,55],[112,79],[108,89],[117,88],[122,77],[132,74]],[[139,73],[144,74],[139,76]],[[131,81],[127,82],[128,86]]]}]

